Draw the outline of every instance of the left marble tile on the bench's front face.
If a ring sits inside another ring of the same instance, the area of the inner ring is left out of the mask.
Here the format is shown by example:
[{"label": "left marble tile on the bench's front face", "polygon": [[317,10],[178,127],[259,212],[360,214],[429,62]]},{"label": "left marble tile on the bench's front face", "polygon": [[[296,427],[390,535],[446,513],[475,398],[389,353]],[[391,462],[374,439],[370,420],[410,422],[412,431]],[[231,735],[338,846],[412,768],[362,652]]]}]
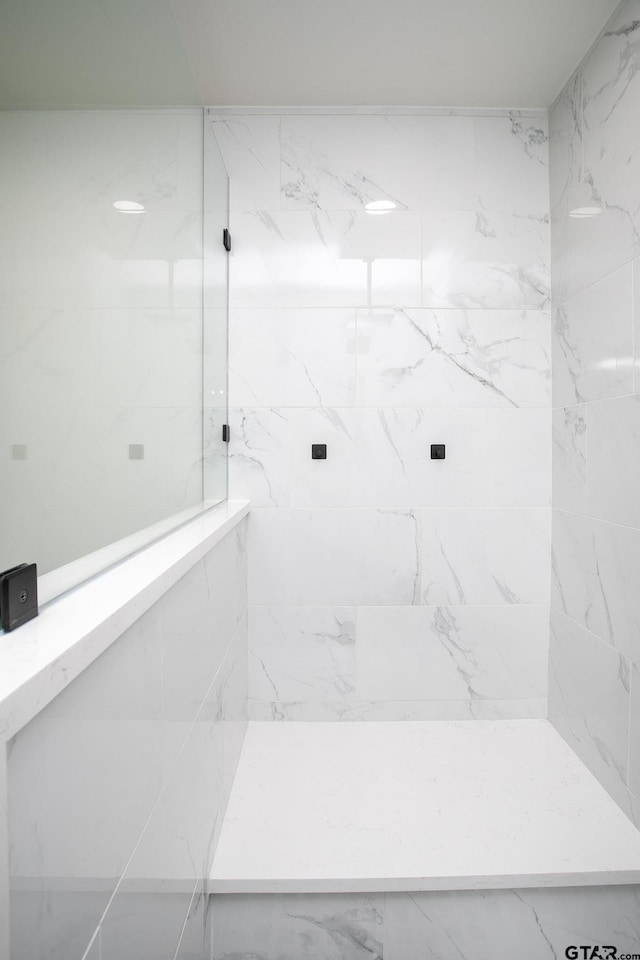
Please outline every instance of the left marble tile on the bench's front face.
[{"label": "left marble tile on the bench's front face", "polygon": [[384,897],[213,897],[213,960],[382,960]]}]

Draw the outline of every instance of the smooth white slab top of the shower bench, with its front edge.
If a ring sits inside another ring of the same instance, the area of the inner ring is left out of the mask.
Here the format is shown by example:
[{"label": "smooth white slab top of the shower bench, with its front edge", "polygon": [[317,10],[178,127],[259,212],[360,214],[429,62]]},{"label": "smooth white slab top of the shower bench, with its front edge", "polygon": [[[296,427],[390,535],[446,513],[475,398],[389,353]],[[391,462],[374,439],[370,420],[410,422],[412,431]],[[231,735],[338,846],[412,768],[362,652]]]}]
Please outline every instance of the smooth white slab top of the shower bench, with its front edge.
[{"label": "smooth white slab top of the shower bench, with its front edge", "polygon": [[640,832],[545,720],[250,723],[212,892],[640,883]]}]

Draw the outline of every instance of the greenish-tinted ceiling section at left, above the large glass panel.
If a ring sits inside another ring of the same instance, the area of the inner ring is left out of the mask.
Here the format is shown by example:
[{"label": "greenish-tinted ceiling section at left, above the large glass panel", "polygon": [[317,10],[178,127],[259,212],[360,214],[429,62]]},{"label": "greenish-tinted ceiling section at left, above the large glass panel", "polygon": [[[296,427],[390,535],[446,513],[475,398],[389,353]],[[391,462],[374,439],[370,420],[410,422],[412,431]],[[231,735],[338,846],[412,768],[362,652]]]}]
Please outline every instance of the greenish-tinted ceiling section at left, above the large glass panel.
[{"label": "greenish-tinted ceiling section at left, above the large glass panel", "polygon": [[0,0],[0,105],[199,105],[170,0]]}]

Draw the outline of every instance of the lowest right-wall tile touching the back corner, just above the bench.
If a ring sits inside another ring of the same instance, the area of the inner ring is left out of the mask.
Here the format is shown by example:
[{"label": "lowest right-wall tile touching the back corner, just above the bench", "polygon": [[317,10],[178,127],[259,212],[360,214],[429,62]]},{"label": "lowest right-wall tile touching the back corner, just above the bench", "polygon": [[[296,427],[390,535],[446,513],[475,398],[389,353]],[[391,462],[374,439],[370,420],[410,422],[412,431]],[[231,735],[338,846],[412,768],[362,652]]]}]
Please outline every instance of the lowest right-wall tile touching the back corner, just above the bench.
[{"label": "lowest right-wall tile touching the back corner, just above the bench", "polygon": [[549,718],[596,777],[626,783],[629,661],[556,610],[549,661]]}]

